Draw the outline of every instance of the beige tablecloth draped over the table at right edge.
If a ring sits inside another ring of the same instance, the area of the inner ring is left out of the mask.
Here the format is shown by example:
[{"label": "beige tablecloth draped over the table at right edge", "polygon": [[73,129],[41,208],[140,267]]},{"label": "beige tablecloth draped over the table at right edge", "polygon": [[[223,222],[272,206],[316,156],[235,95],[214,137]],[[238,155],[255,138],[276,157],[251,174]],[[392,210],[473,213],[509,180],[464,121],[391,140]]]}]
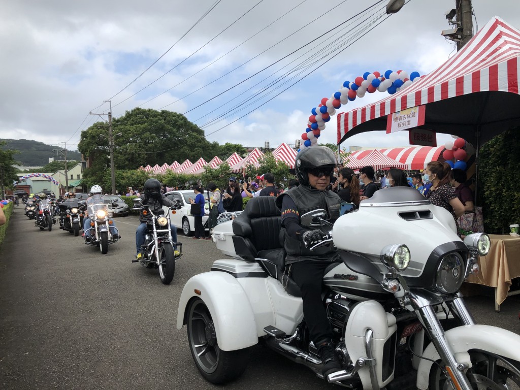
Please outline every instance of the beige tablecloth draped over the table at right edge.
[{"label": "beige tablecloth draped over the table at right edge", "polygon": [[491,249],[487,256],[478,258],[478,275],[470,275],[466,282],[495,287],[500,305],[508,296],[511,279],[520,277],[520,237],[489,235],[489,238]]}]

